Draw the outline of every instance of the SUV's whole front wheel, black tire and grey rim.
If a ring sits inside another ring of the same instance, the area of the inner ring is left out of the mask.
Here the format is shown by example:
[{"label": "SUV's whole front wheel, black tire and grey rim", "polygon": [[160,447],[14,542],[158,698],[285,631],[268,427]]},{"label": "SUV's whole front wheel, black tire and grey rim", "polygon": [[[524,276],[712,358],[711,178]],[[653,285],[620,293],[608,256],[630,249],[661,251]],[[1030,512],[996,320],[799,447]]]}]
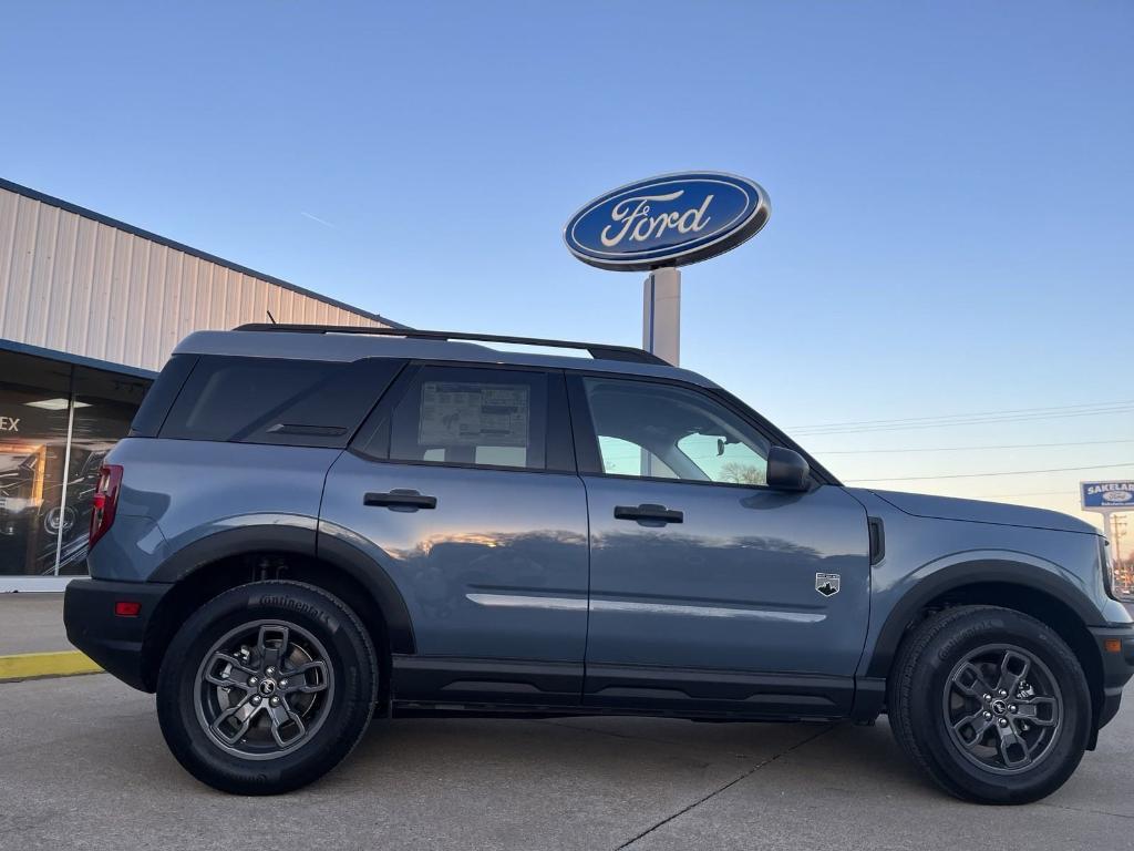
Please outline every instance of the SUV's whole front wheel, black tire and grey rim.
[{"label": "SUV's whole front wheel, black tire and grey rim", "polygon": [[887,709],[906,756],[949,794],[979,803],[1051,794],[1091,732],[1086,677],[1070,648],[1040,621],[992,606],[946,609],[907,635]]}]

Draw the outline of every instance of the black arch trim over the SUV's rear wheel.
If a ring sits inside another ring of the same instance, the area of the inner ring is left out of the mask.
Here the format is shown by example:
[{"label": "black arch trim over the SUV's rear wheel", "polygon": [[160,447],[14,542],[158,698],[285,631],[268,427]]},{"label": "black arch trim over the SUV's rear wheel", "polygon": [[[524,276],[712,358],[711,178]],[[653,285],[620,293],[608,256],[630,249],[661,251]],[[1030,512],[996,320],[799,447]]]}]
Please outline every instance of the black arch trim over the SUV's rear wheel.
[{"label": "black arch trim over the SUV's rear wheel", "polygon": [[[373,597],[386,618],[391,652],[416,652],[409,610],[386,570],[348,541],[328,534],[327,524],[322,524],[323,531],[319,533],[320,526],[314,519],[302,521],[290,525],[249,524],[213,532],[169,556],[149,581],[176,584],[209,564],[246,553],[294,554],[322,559],[341,570]],[[345,603],[349,605],[349,600]]]}]

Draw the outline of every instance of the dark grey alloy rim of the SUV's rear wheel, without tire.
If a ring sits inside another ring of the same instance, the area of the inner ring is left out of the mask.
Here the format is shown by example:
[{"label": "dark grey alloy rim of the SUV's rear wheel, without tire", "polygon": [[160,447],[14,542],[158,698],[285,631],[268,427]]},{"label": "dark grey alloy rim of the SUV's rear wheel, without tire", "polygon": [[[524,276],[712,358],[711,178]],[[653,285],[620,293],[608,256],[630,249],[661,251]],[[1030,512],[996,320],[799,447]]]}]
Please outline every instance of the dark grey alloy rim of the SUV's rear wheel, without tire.
[{"label": "dark grey alloy rim of the SUV's rear wheel, without tire", "polygon": [[217,747],[273,759],[303,747],[335,699],[322,643],[287,621],[253,621],[205,654],[196,675],[197,722]]}]

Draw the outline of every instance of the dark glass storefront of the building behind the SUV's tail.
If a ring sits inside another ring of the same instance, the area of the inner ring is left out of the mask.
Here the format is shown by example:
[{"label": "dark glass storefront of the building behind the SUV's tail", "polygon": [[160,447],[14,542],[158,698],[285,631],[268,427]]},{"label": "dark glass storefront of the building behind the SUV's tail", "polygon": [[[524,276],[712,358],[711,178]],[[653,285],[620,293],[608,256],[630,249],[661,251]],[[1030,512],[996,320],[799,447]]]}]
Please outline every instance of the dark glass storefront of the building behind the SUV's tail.
[{"label": "dark glass storefront of the building behind the SUV's tail", "polygon": [[150,384],[0,351],[0,576],[86,573],[99,467]]}]

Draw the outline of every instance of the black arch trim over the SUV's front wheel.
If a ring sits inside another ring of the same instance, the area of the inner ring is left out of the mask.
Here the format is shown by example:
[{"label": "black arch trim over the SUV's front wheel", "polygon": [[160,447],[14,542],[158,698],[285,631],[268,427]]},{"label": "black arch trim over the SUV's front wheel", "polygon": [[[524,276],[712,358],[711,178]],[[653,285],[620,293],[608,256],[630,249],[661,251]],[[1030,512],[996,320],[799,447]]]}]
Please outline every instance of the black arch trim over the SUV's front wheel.
[{"label": "black arch trim over the SUV's front wheel", "polygon": [[1069,608],[1084,629],[1102,622],[1099,609],[1086,595],[1052,573],[1007,558],[960,562],[922,578],[898,600],[879,632],[863,676],[885,679],[889,675],[906,627],[933,599],[966,585],[990,583],[1021,585],[1043,593]]}]

